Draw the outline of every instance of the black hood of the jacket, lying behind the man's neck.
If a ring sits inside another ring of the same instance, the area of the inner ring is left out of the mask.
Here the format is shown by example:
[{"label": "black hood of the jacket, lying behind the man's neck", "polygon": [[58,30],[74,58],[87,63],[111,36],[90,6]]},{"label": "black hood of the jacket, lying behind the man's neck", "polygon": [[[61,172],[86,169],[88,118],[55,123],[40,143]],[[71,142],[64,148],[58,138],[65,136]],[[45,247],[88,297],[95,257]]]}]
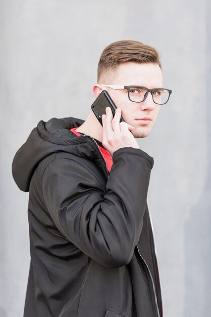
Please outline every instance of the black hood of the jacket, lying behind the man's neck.
[{"label": "black hood of the jacket, lying behind the man's neck", "polygon": [[52,118],[47,123],[40,121],[26,142],[15,154],[12,173],[18,187],[29,191],[33,172],[46,156],[57,152],[68,152],[97,161],[104,170],[100,152],[88,136],[76,136],[70,131],[84,121],[76,118]]}]

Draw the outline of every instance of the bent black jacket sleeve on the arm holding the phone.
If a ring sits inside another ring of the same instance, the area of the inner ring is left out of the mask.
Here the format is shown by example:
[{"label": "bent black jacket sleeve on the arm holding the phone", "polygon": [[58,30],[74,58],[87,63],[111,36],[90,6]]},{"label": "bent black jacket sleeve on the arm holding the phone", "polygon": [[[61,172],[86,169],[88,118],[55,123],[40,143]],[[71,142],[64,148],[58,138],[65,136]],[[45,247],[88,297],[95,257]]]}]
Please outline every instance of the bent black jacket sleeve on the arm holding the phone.
[{"label": "bent black jacket sleeve on the arm holding the phone", "polygon": [[105,185],[93,163],[56,154],[42,178],[44,203],[58,229],[107,267],[128,264],[138,242],[153,159],[140,149],[113,155]]}]

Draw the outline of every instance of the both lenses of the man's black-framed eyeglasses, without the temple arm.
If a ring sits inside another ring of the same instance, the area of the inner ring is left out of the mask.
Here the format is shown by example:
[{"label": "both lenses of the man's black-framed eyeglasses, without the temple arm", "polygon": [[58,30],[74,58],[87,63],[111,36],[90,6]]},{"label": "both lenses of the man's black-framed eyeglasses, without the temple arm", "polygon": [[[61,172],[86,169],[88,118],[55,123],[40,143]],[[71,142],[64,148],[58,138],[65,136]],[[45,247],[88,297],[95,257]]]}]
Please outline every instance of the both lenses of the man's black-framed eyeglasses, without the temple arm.
[{"label": "both lenses of the man's black-framed eyeglasses, without the temple arm", "polygon": [[[131,87],[129,89],[129,97],[131,101],[141,102],[147,94],[147,89],[141,87]],[[151,92],[153,101],[157,104],[164,104],[169,99],[169,91],[166,89],[154,89]]]}]

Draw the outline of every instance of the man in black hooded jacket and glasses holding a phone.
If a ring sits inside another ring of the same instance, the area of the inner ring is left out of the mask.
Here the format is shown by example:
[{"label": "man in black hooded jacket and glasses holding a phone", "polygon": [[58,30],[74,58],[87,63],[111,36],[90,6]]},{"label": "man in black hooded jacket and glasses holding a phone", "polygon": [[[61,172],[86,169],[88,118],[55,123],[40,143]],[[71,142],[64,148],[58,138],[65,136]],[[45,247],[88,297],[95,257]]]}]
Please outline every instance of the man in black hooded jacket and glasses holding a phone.
[{"label": "man in black hooded jacket and glasses holding a phone", "polygon": [[101,54],[93,92],[109,92],[114,118],[107,108],[103,128],[92,111],[85,122],[41,121],[17,152],[13,176],[29,191],[24,317],[162,316],[146,204],[153,159],[136,141],[168,101],[162,87],[153,48],[113,43]]}]

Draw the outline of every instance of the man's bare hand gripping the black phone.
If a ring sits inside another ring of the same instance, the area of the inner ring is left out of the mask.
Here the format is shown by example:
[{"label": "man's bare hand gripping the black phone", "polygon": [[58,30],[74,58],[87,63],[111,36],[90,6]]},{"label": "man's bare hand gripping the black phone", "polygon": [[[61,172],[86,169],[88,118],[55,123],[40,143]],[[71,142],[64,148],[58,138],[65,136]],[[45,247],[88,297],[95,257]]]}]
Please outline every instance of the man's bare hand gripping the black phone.
[{"label": "man's bare hand gripping the black phone", "polygon": [[120,123],[121,109],[117,108],[113,118],[110,107],[102,115],[102,145],[113,156],[113,153],[122,147],[140,148],[138,142],[130,131],[135,128],[126,122]]}]

